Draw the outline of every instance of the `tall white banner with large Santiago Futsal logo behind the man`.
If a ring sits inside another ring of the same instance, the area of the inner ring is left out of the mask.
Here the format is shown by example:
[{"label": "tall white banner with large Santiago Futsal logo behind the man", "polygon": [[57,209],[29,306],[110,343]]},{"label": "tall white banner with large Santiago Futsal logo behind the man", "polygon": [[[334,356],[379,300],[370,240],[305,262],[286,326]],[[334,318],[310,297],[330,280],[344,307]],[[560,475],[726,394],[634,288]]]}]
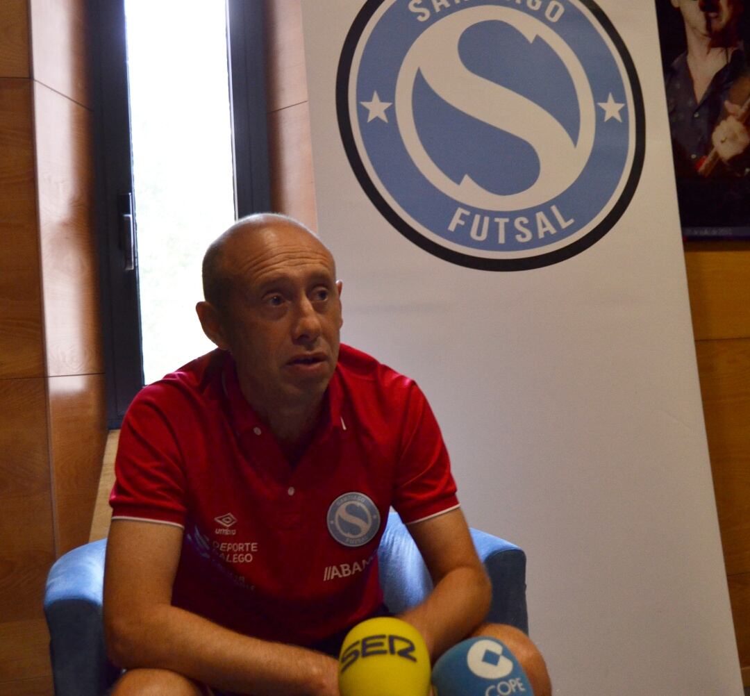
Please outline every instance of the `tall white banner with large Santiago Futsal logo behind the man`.
[{"label": "tall white banner with large Santiago Futsal logo behind the man", "polygon": [[528,556],[557,694],[742,694],[652,0],[303,0],[343,340]]}]

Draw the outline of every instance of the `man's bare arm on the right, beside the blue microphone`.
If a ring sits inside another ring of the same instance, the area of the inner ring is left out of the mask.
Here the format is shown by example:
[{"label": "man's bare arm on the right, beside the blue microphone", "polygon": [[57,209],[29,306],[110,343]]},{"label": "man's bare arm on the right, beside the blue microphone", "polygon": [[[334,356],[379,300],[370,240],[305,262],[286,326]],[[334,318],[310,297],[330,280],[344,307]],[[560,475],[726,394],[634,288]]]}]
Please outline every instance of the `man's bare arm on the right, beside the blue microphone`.
[{"label": "man's bare arm on the right, beside the blue microphone", "polygon": [[401,618],[422,633],[434,660],[484,620],[492,588],[460,509],[408,529],[435,586],[422,604]]}]

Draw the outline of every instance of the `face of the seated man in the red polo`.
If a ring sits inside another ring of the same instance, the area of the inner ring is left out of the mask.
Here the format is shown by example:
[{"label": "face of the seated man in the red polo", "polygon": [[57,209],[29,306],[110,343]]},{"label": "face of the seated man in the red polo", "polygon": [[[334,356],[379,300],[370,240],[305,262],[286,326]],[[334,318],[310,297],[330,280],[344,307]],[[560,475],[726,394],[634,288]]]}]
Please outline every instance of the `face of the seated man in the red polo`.
[{"label": "face of the seated man in the red polo", "polygon": [[232,290],[223,335],[240,386],[261,413],[316,404],[338,361],[341,282],[333,259],[292,223],[240,233],[227,242]]}]

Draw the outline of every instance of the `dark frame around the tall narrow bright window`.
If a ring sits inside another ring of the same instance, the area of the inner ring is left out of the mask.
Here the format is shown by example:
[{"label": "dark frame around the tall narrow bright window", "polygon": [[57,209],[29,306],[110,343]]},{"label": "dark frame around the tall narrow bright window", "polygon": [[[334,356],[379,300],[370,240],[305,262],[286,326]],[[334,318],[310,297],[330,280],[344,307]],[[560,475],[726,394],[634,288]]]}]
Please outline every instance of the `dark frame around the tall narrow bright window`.
[{"label": "dark frame around the tall narrow bright window", "polygon": [[[88,11],[107,426],[118,428],[143,386],[124,0],[89,0]],[[243,217],[271,201],[263,3],[226,0],[226,26],[235,214]]]}]

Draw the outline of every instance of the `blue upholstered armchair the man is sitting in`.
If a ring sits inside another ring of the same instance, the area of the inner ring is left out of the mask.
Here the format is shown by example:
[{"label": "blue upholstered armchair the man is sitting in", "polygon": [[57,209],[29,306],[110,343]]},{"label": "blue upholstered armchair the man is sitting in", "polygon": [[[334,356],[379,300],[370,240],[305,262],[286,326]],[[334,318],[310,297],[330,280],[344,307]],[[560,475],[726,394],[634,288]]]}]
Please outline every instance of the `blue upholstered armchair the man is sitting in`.
[{"label": "blue upholstered armchair the man is sitting in", "polygon": [[[526,555],[519,547],[472,529],[474,545],[492,580],[488,621],[528,632]],[[102,626],[102,580],[107,540],[61,556],[49,571],[44,613],[55,696],[101,696],[119,670],[107,659]],[[422,601],[432,583],[406,527],[392,512],[378,550],[386,606],[393,613]]]}]

